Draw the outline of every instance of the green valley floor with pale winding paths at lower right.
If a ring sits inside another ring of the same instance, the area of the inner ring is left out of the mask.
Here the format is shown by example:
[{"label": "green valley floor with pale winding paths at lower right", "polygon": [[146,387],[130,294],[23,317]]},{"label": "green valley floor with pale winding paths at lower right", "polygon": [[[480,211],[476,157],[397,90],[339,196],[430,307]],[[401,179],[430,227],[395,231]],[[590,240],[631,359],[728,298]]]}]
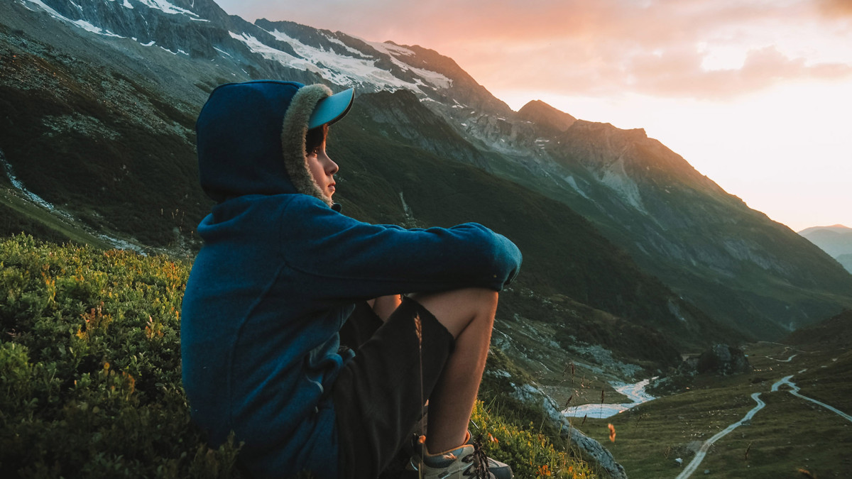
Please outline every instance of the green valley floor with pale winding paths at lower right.
[{"label": "green valley floor with pale winding paths at lower right", "polygon": [[[756,343],[746,354],[750,373],[697,377],[688,390],[612,418],[588,418],[580,429],[607,444],[630,477],[687,472],[705,441],[739,421],[704,448],[693,477],[852,476],[852,352]],[[791,382],[799,395],[791,394]],[[760,402],[765,407],[758,409]],[[607,424],[615,428],[614,442]]]}]

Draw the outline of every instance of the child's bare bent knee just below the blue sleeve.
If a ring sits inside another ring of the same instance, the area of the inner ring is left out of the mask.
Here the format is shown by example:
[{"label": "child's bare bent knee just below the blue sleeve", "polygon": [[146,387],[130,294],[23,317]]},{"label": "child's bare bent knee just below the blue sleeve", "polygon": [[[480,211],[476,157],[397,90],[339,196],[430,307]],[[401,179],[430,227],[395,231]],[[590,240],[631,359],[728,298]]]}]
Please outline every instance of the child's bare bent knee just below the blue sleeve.
[{"label": "child's bare bent knee just below the blue sleeve", "polygon": [[428,309],[455,338],[471,323],[490,331],[498,302],[498,292],[485,288],[413,293],[409,297]]}]

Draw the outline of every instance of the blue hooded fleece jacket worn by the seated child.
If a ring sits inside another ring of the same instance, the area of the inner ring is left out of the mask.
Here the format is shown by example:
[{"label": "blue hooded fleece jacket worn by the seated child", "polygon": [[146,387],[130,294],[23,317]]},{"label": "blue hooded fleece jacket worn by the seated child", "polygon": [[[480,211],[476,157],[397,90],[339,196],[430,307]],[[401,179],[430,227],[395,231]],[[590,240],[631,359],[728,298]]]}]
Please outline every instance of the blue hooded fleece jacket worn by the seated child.
[{"label": "blue hooded fleece jacket worn by the seated child", "polygon": [[332,208],[304,152],[307,118],[330,93],[291,82],[226,84],[196,124],[202,187],[218,203],[199,224],[204,247],[183,298],[183,384],[212,445],[232,430],[245,441],[240,462],[253,476],[338,476],[325,393],[351,359],[338,354],[338,331],[354,303],[499,291],[521,266],[515,245],[479,224],[406,229]]}]

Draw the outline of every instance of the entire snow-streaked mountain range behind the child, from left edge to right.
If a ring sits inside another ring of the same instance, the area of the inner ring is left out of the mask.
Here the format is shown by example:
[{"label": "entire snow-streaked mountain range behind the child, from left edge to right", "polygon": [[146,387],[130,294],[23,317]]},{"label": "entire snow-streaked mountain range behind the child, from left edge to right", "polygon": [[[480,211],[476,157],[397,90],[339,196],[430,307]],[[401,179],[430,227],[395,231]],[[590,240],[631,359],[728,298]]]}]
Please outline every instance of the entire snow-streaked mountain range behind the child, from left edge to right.
[{"label": "entire snow-streaked mountain range behind the child, from left edge to right", "polygon": [[0,66],[9,232],[191,254],[210,208],[194,118],[217,84],[282,78],[358,92],[330,143],[347,214],[504,232],[525,255],[504,314],[555,327],[564,350],[653,368],[852,307],[832,257],[643,130],[542,101],[514,112],[420,46],[251,24],[210,0],[10,0]]}]

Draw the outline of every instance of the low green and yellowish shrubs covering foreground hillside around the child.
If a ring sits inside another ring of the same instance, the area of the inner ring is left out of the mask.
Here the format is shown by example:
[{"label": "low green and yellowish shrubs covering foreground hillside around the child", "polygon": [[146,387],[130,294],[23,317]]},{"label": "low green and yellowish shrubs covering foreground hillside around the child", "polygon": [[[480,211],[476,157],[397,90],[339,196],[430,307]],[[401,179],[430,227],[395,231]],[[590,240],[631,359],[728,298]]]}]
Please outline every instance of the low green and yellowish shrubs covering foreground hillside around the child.
[{"label": "low green and yellowish shrubs covering foreground hillside around the child", "polygon": [[[0,476],[236,477],[189,422],[180,307],[189,266],[168,257],[0,242]],[[519,477],[591,477],[566,445],[479,404],[485,447]]]}]

